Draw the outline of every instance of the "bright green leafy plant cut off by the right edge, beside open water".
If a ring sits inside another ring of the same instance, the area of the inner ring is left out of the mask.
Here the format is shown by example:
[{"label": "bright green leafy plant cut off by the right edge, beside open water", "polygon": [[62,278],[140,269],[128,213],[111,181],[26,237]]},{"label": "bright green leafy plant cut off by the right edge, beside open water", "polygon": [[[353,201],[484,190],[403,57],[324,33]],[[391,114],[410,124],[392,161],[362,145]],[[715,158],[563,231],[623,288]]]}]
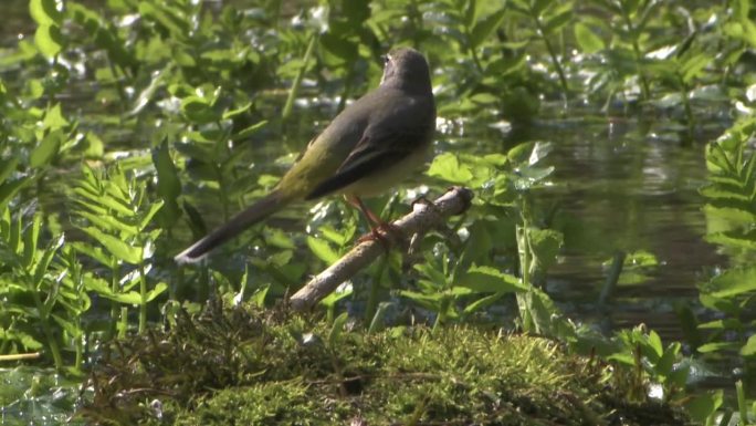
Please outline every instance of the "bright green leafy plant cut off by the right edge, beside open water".
[{"label": "bright green leafy plant cut off by the right edge, beside open water", "polygon": [[701,353],[737,353],[753,392],[756,368],[756,322],[747,318],[754,309],[756,290],[756,153],[748,141],[756,134],[756,118],[735,123],[706,147],[708,183],[701,188],[706,198],[706,239],[722,247],[733,259],[729,269],[699,283],[701,303],[720,318],[697,324],[708,333]]}]

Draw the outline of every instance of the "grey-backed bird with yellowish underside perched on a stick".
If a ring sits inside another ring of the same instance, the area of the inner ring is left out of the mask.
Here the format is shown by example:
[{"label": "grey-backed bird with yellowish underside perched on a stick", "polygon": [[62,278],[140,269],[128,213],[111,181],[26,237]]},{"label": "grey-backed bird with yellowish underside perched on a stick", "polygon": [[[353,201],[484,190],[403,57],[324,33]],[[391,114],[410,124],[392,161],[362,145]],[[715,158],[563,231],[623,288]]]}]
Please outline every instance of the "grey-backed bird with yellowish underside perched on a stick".
[{"label": "grey-backed bird with yellowish underside perched on a stick", "polygon": [[176,256],[198,260],[290,202],[343,194],[374,224],[359,197],[380,194],[426,160],[435,129],[428,62],[418,51],[385,56],[380,85],[360,97],[312,139],[273,191]]}]

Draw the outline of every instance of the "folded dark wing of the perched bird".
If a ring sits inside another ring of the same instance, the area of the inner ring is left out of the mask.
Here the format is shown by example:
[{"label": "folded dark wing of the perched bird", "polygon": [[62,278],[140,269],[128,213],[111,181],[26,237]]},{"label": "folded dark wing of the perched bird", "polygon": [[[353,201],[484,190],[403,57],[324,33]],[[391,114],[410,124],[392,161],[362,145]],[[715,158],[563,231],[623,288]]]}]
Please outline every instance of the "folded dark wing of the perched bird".
[{"label": "folded dark wing of the perched bird", "polygon": [[384,170],[407,158],[422,147],[421,132],[371,132],[366,129],[355,149],[342,163],[336,173],[317,185],[305,199],[314,199],[346,188],[347,186]]}]

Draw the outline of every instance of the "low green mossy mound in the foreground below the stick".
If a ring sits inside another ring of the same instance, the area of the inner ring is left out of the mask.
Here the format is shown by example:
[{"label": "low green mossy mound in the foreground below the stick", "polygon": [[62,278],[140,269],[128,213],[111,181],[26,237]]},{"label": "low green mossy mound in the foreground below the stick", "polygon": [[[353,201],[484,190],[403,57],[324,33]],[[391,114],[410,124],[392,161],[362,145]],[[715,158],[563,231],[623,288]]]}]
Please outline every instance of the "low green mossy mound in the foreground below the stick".
[{"label": "low green mossy mound in the foreground below the stick", "polygon": [[471,326],[339,331],[282,311],[213,309],[115,342],[94,367],[97,424],[683,425],[628,403],[606,365]]}]

